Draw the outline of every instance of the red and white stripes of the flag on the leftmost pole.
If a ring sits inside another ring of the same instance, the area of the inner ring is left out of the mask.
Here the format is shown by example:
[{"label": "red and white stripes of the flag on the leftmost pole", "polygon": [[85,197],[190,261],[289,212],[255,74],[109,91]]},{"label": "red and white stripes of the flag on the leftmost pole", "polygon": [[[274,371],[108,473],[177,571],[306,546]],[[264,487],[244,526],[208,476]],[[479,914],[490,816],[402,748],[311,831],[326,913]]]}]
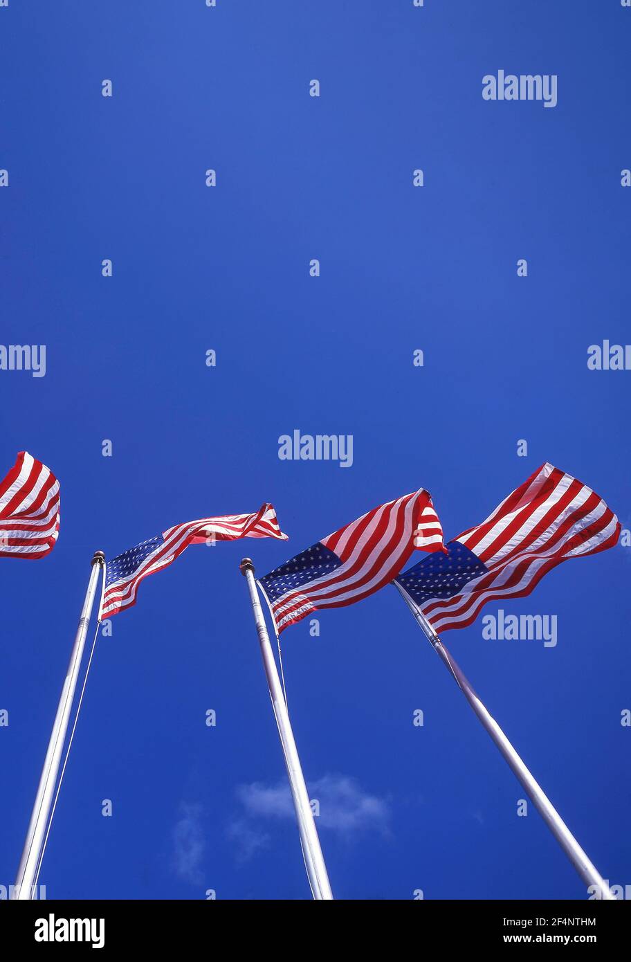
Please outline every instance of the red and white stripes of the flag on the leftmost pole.
[{"label": "red and white stripes of the flag on the leftmost pole", "polygon": [[220,515],[176,524],[163,532],[164,544],[152,552],[129,577],[106,588],[99,619],[110,618],[136,604],[140,582],[149,574],[166,568],[189,544],[212,544],[239,538],[277,538],[287,541],[271,504],[264,504],[251,515]]}]

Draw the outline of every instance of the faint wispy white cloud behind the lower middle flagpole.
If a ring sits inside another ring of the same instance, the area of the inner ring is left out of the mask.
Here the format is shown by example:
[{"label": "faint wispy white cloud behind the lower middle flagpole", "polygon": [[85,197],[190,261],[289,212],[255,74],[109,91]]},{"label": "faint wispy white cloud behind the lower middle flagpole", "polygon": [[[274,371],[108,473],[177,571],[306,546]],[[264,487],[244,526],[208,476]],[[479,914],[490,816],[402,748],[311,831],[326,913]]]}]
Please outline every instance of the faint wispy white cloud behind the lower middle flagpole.
[{"label": "faint wispy white cloud behind the lower middle flagpole", "polygon": [[[385,798],[370,795],[357,779],[348,775],[326,774],[309,786],[312,802],[317,803],[315,824],[318,828],[337,832],[345,839],[362,831],[387,834],[390,830],[390,806]],[[229,834],[240,844],[240,857],[249,858],[269,842],[261,825],[269,821],[295,819],[290,787],[285,780],[265,784],[240,785],[237,797],[242,806],[240,818],[230,826]]]}]

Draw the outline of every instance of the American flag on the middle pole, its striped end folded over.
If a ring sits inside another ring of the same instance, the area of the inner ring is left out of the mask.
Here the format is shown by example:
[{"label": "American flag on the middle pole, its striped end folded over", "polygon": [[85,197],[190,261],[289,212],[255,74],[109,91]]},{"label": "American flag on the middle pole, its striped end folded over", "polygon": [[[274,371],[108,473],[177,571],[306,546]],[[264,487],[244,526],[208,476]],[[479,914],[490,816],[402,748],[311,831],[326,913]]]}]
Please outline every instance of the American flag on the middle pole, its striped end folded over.
[{"label": "American flag on the middle pole, its striped end folded over", "polygon": [[373,508],[261,578],[276,630],[318,608],[341,608],[372,595],[415,548],[444,551],[441,522],[422,488]]}]

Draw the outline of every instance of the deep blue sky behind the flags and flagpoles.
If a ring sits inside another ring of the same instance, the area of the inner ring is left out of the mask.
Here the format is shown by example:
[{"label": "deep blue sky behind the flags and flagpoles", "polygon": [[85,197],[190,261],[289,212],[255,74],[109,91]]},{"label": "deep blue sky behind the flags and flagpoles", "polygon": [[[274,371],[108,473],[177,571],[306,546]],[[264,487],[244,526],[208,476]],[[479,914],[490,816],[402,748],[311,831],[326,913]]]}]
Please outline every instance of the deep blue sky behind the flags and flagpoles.
[{"label": "deep blue sky behind the flags and flagpoles", "polygon": [[[94,549],[264,500],[290,535],[192,546],[114,618],[41,874],[49,898],[305,899],[241,556],[263,574],[421,486],[453,537],[546,460],[629,525],[631,373],[588,371],[587,348],[629,340],[630,32],[618,0],[0,10],[2,341],[47,345],[45,377],[0,373],[0,468],[26,448],[62,483],[52,555],[0,562],[2,884]],[[557,74],[558,106],[485,102],[500,68]],[[280,461],[294,428],[352,434],[353,467]],[[555,648],[484,641],[479,620],[445,636],[618,883],[630,551],[502,605],[556,614]],[[287,631],[285,670],[335,894],[582,898],[537,813],[517,818],[522,790],[394,590],[320,626]]]}]

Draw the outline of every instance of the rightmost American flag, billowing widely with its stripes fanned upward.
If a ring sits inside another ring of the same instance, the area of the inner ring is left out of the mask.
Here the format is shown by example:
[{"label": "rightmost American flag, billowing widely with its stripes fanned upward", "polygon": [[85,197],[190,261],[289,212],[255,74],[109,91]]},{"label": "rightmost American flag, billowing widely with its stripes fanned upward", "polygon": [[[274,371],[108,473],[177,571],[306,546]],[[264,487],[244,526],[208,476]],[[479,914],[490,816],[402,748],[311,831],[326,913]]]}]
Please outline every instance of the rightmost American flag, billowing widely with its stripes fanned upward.
[{"label": "rightmost American flag, billowing widely with its stripes fanned upward", "polygon": [[466,628],[487,601],[530,595],[568,558],[613,547],[620,525],[591,488],[544,464],[482,524],[397,583],[437,632]]}]

